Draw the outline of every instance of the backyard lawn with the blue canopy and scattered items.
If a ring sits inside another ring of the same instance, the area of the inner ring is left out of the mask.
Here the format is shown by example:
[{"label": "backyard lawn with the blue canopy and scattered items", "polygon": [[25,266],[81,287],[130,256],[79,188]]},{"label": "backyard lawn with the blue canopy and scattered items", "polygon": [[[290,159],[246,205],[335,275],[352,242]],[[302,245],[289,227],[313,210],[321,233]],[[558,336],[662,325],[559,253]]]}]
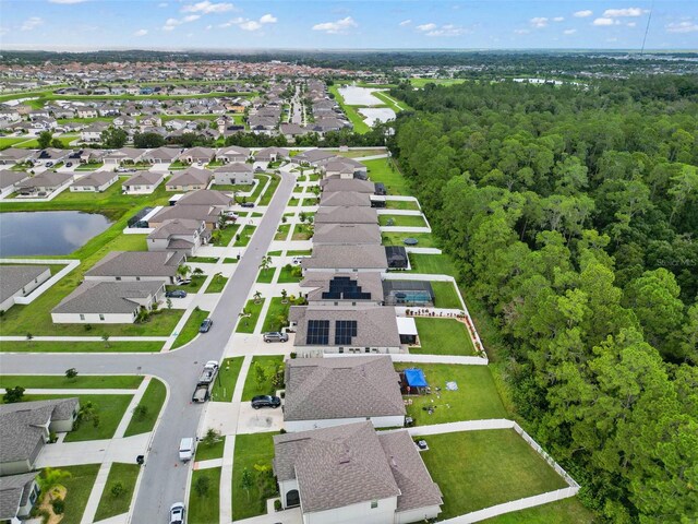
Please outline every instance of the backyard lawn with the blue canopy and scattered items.
[{"label": "backyard lawn with the blue canopy and scattered items", "polygon": [[[508,417],[486,366],[409,362],[395,366],[400,371],[414,367],[424,371],[426,382],[432,388],[431,395],[406,397],[412,401],[412,405],[407,406],[407,414],[419,426]],[[458,384],[458,391],[446,390],[446,382],[450,381]],[[435,388],[441,388],[441,392],[436,393]],[[424,406],[436,406],[436,409],[430,415],[422,409]]]}]

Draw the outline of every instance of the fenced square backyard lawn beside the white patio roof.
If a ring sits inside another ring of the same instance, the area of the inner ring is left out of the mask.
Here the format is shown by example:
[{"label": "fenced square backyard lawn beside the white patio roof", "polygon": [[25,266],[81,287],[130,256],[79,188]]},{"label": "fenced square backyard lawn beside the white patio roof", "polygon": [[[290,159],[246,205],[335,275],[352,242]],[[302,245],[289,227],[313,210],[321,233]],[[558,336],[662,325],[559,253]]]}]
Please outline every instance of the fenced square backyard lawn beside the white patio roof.
[{"label": "fenced square backyard lawn beside the white patio roof", "polygon": [[468,326],[455,319],[417,318],[420,348],[410,347],[410,353],[428,355],[474,356]]}]

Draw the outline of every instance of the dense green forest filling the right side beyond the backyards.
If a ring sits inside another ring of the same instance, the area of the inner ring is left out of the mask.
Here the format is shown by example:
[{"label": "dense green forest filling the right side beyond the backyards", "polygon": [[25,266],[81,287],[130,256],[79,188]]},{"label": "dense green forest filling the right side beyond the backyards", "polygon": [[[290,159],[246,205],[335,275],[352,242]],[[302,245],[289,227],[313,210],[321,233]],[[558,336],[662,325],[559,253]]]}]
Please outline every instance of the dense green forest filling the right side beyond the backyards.
[{"label": "dense green forest filling the right side beyond the backyards", "polygon": [[392,94],[526,426],[609,522],[696,522],[698,79]]}]

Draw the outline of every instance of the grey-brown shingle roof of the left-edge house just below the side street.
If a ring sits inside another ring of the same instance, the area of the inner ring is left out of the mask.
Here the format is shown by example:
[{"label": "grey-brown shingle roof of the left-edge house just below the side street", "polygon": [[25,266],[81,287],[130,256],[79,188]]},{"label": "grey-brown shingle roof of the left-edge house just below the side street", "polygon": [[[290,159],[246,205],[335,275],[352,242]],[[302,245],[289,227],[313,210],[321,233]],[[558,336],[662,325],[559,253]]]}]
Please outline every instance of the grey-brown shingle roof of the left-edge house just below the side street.
[{"label": "grey-brown shingle roof of the left-edge house just below the side street", "polygon": [[69,420],[76,397],[0,405],[0,462],[28,460],[51,420]]}]

